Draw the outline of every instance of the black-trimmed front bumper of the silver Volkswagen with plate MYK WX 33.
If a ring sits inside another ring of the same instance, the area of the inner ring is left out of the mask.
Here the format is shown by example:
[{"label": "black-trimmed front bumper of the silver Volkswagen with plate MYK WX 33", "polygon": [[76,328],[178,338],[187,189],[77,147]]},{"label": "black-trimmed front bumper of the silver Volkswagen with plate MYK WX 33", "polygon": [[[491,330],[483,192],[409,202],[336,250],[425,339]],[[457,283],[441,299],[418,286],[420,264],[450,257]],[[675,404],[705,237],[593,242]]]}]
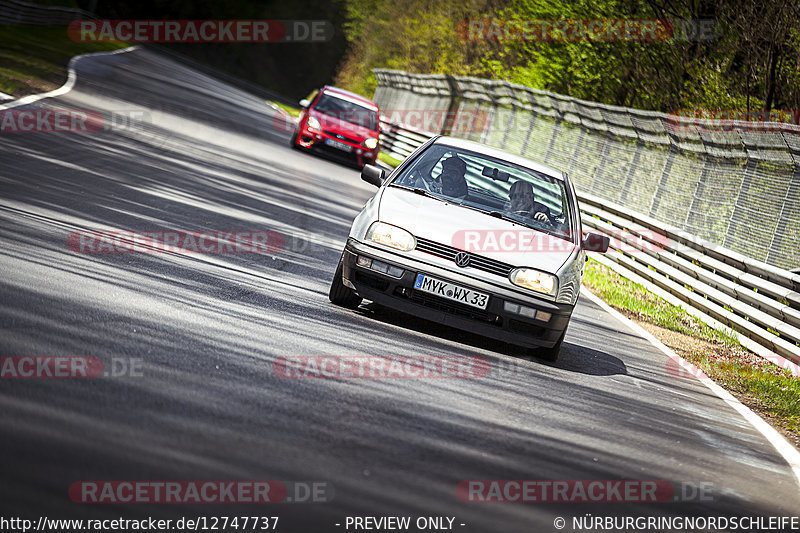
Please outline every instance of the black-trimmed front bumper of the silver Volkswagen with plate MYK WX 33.
[{"label": "black-trimmed front bumper of the silver Volkswagen with plate MYK WX 33", "polygon": [[[392,277],[358,265],[358,256],[377,259],[403,269],[401,277]],[[455,267],[455,264],[454,264]],[[414,289],[418,273],[489,294],[486,309],[452,302]],[[557,304],[465,276],[456,270],[423,263],[392,252],[349,239],[345,246],[342,277],[359,296],[458,329],[525,347],[552,347],[567,328],[573,305]],[[548,322],[523,317],[504,310],[504,302],[524,305],[550,313]]]}]

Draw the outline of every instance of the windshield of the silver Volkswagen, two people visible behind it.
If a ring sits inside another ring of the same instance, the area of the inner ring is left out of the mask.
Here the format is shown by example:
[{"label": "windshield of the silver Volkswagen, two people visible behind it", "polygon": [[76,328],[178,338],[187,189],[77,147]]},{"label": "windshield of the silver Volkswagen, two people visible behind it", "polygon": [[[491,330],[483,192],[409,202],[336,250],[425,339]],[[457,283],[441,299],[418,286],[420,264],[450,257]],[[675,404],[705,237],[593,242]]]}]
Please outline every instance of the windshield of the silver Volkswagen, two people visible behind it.
[{"label": "windshield of the silver Volkswagen, two people visible behind it", "polygon": [[420,189],[574,242],[572,203],[564,181],[508,161],[433,144],[391,185]]}]

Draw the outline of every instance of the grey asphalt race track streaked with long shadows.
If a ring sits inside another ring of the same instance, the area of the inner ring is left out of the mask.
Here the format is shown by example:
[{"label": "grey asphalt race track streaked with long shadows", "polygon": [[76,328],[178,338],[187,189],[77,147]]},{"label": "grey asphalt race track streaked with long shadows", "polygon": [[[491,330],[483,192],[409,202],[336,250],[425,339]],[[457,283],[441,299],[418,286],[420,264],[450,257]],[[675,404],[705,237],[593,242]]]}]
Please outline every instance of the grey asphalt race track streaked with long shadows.
[{"label": "grey asphalt race track streaked with long shadows", "polygon": [[[573,531],[587,513],[800,508],[792,471],[749,422],[698,380],[671,375],[666,355],[585,297],[556,364],[372,304],[331,305],[350,222],[375,190],[356,170],[291,150],[263,101],[153,52],[75,68],[71,91],[26,108],[141,120],[0,134],[0,355],[92,356],[123,375],[0,379],[3,516],[279,516],[285,532],[346,531],[348,516],[445,516],[458,531],[529,533],[556,531],[559,516]],[[269,230],[283,245],[68,246],[73,232],[110,230]],[[313,355],[480,357],[491,372],[273,370],[280,357]],[[459,499],[458,484],[476,479],[663,480],[686,501]],[[69,488],[86,480],[317,482],[328,501],[76,503]]]}]

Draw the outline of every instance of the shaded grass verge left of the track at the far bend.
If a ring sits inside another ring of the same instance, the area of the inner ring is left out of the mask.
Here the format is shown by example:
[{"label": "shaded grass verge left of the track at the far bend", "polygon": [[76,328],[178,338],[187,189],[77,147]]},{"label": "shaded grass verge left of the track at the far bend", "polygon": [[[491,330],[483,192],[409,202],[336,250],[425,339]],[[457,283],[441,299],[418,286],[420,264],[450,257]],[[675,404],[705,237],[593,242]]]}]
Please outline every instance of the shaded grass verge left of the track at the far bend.
[{"label": "shaded grass verge left of the track at the far bend", "polygon": [[67,80],[73,56],[127,46],[118,41],[75,42],[66,26],[0,25],[0,92],[19,98],[52,91]]}]

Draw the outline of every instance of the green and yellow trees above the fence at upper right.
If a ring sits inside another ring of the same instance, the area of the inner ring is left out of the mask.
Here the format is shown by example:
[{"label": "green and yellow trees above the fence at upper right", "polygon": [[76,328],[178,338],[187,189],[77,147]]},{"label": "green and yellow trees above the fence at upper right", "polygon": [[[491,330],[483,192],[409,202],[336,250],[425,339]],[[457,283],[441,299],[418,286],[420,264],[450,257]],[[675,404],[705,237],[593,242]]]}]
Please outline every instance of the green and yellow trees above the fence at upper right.
[{"label": "green and yellow trees above the fence at upper right", "polygon": [[[345,0],[337,83],[372,94],[376,67],[498,78],[664,112],[800,107],[800,10],[791,0]],[[466,19],[700,20],[708,40],[466,40]],[[461,30],[461,33],[460,33]],[[789,118],[789,117],[787,117]],[[795,117],[796,120],[796,117]]]}]

